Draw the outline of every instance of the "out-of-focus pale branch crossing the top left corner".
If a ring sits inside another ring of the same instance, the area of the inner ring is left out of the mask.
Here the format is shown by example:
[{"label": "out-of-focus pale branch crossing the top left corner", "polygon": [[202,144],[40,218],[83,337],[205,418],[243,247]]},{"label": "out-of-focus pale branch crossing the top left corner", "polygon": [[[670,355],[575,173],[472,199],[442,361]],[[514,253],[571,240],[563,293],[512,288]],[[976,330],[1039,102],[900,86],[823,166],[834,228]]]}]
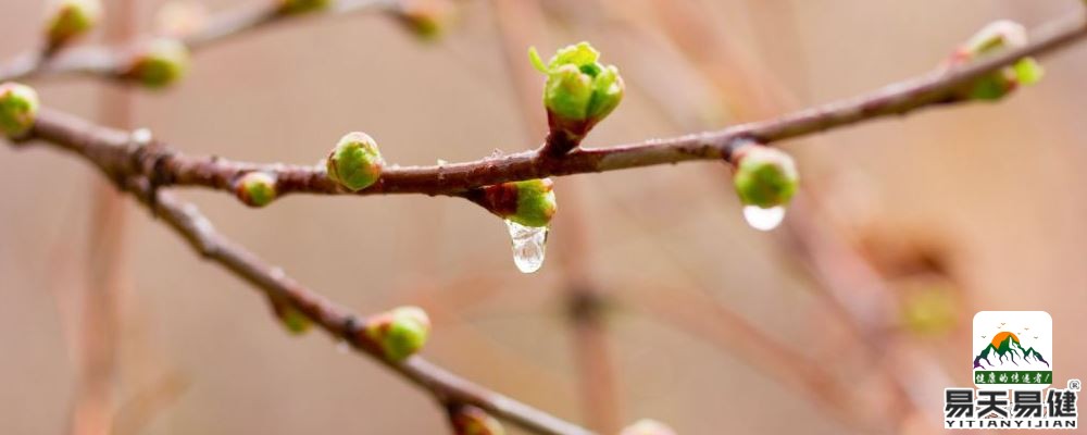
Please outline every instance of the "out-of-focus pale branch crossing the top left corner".
[{"label": "out-of-focus pale branch crossing the top left corner", "polygon": [[[400,13],[402,0],[340,0],[317,15],[343,15],[353,12]],[[180,38],[190,50],[199,50],[272,24],[304,18],[312,13],[284,12],[278,1],[265,0],[216,14],[196,32]],[[139,38],[137,38],[139,39]],[[0,82],[26,80],[43,76],[92,75],[121,78],[128,61],[129,47],[84,46],[61,51],[27,52],[0,65]]]}]

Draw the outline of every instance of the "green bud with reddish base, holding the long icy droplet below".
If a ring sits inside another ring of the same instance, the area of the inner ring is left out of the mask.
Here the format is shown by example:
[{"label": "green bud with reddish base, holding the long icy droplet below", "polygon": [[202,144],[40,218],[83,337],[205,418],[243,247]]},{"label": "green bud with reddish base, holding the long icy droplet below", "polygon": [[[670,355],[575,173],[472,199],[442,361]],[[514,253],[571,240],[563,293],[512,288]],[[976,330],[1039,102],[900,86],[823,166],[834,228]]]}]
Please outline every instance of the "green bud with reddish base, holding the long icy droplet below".
[{"label": "green bud with reddish base, holding the long icy droplet below", "polygon": [[547,226],[559,209],[551,178],[496,184],[471,196],[491,213],[524,226]]}]

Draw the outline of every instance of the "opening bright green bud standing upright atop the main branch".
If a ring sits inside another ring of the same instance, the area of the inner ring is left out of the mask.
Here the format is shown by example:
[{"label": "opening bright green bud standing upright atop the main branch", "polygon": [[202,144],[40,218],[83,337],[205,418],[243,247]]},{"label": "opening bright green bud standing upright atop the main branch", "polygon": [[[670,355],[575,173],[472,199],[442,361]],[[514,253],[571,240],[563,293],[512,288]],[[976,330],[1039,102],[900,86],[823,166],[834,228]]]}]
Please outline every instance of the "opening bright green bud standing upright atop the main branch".
[{"label": "opening bright green bud standing upright atop the main branch", "polygon": [[623,99],[619,69],[598,62],[600,52],[588,42],[560,49],[546,65],[535,48],[528,55],[533,65],[547,75],[544,105],[552,130],[584,137]]}]

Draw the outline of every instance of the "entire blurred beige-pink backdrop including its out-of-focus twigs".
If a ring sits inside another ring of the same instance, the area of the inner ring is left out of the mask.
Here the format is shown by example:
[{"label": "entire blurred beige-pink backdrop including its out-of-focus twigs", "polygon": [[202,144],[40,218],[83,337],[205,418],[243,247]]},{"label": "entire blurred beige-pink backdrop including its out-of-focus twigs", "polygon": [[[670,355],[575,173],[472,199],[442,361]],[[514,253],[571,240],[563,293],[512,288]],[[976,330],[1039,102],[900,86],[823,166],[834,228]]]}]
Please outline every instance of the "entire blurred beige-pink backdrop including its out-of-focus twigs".
[{"label": "entire blurred beige-pink backdrop including its out-of-focus twigs", "polygon": [[[199,3],[247,1],[262,0]],[[89,39],[151,33],[164,3],[109,0]],[[2,1],[0,57],[39,45],[45,5]],[[163,92],[34,84],[49,107],[190,154],[307,164],[364,130],[390,163],[433,164],[538,146],[528,46],[590,40],[621,69],[627,96],[587,139],[607,146],[853,96],[928,71],[994,20],[1082,13],[1073,0],[439,7],[434,40],[382,13],[249,33],[196,53]],[[602,433],[640,418],[682,434],[937,433],[944,388],[971,385],[977,311],[1048,311],[1054,384],[1087,375],[1087,47],[1042,64],[1040,84],[997,104],[782,144],[807,191],[770,233],[745,223],[722,163],[561,178],[536,274],[463,200],[290,196],[257,211],[179,191],[333,300],[422,306],[434,361]],[[258,293],[85,162],[0,147],[0,433],[448,433],[425,391],[321,333],[286,334]]]}]

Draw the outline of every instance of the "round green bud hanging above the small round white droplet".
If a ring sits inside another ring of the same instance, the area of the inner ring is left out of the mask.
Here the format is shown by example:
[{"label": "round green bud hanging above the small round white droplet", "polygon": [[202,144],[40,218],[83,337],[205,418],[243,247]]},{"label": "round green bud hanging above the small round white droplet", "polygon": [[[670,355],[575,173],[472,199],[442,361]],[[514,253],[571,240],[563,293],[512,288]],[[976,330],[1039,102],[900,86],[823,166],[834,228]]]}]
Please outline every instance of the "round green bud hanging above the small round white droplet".
[{"label": "round green bud hanging above the small round white droplet", "polygon": [[735,158],[733,182],[745,204],[763,209],[784,206],[797,192],[797,166],[784,151],[748,145],[736,150]]}]

